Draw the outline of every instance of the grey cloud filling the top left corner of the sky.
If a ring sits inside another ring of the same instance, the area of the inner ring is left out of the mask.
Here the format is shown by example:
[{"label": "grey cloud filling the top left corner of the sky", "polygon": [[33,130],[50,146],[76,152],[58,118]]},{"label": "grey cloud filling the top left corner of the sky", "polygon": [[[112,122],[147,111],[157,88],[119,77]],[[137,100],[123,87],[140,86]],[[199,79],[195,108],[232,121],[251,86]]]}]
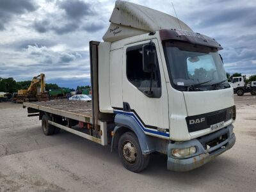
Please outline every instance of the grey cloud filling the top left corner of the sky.
[{"label": "grey cloud filling the top left corner of the sky", "polygon": [[33,0],[1,0],[0,1],[0,30],[4,30],[6,24],[15,15],[34,12],[38,7]]}]

